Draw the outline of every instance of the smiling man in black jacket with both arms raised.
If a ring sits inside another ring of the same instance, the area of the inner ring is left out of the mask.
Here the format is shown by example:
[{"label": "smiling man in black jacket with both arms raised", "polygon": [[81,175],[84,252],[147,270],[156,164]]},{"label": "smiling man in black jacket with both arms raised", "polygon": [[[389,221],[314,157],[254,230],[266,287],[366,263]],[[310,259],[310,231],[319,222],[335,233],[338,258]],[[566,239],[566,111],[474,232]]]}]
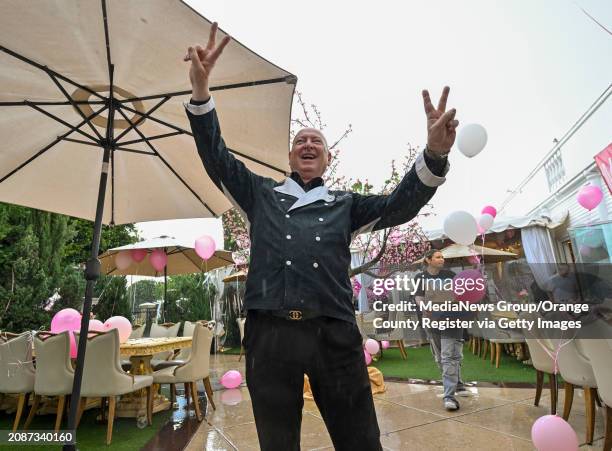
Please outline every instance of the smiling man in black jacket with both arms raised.
[{"label": "smiling man in black jacket with both arms raised", "polygon": [[[228,152],[209,91],[210,73],[229,42],[189,47],[192,99],[185,105],[204,168],[239,209],[251,236],[243,345],[260,447],[299,450],[304,374],[336,450],[380,450],[380,431],[355,322],[348,276],[350,243],[363,232],[403,224],[431,199],[448,171],[455,140],[449,89],[435,108],[423,91],[427,148],[389,195],[329,191],[323,134],[303,129],[283,182],[261,177]],[[375,149],[374,149],[375,150]]]}]

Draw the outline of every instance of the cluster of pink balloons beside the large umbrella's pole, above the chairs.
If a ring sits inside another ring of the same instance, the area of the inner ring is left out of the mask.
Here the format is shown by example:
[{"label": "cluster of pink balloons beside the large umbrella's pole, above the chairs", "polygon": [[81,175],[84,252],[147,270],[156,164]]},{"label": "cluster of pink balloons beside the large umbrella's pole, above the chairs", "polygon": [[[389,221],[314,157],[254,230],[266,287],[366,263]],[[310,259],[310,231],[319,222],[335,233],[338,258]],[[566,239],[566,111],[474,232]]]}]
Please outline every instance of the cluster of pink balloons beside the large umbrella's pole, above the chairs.
[{"label": "cluster of pink balloons beside the large umbrella's pole, above the chairs", "polygon": [[[74,338],[74,331],[81,329],[82,315],[75,309],[66,308],[57,312],[51,319],[51,332],[54,334],[68,331],[70,335],[70,357],[73,359],[77,356],[77,345]],[[125,343],[132,333],[132,324],[123,316],[112,316],[104,323],[97,319],[89,321],[90,332],[107,332],[111,329],[117,329],[119,332],[119,341]]]}]

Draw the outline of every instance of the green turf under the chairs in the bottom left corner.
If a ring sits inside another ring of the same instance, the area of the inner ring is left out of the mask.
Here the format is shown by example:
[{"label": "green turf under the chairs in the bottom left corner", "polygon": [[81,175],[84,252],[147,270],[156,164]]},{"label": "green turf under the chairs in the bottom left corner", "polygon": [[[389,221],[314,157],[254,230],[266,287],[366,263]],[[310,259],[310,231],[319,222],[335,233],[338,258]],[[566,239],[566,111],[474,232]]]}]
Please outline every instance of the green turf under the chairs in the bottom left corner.
[{"label": "green turf under the chairs in the bottom left corner", "polygon": [[[29,408],[26,409],[21,417],[20,427],[23,427]],[[77,447],[81,451],[136,451],[141,449],[149,440],[153,438],[159,429],[168,421],[171,416],[171,411],[163,411],[153,414],[153,425],[146,426],[143,429],[138,429],[136,426],[136,418],[115,418],[113,423],[113,441],[110,446],[106,445],[106,422],[96,423],[96,416],[100,409],[89,409],[83,412],[81,423],[77,430]],[[12,429],[15,414],[7,415],[2,412],[0,414],[0,429]],[[63,427],[66,427],[66,418],[64,417]],[[55,415],[37,415],[34,417],[29,430],[53,430],[55,424]],[[21,429],[20,429],[21,430]],[[15,451],[33,451],[36,449],[42,450],[60,450],[61,445],[0,445],[0,450],[15,450]]]}]

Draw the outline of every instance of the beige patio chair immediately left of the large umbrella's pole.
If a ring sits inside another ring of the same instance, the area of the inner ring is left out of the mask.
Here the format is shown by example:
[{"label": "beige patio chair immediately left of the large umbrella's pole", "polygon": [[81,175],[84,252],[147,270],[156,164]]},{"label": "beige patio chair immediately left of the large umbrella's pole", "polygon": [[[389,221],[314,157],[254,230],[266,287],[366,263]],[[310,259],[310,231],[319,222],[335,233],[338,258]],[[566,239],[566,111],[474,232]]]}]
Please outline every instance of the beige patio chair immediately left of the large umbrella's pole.
[{"label": "beige patio chair immediately left of the large umbrella's pole", "polygon": [[66,396],[72,393],[74,369],[70,361],[69,332],[54,334],[38,332],[34,335],[36,351],[36,379],[34,381],[34,403],[26,420],[24,429],[36,415],[41,396],[57,396],[57,413],[55,415],[55,432],[62,423]]}]

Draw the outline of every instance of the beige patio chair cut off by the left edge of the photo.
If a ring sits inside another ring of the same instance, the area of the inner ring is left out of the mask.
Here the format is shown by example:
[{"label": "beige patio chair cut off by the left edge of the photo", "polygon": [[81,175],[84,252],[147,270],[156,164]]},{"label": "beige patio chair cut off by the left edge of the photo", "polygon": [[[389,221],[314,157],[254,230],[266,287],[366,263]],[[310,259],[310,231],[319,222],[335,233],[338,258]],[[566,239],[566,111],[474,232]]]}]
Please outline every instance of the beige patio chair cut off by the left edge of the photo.
[{"label": "beige patio chair cut off by the left edge of the photo", "polygon": [[0,336],[0,393],[19,395],[13,432],[19,427],[24,406],[34,391],[32,334],[3,332]]}]

